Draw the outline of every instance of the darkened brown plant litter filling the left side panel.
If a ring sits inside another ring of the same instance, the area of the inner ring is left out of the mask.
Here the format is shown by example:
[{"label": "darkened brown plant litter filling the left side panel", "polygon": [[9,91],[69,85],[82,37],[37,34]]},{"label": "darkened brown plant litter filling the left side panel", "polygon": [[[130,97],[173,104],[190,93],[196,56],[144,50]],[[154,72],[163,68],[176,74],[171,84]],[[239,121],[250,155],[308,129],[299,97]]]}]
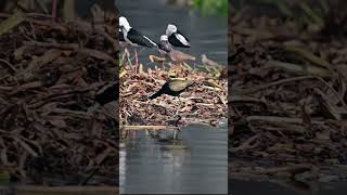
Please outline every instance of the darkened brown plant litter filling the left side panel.
[{"label": "darkened brown plant litter filling the left side panel", "polygon": [[116,79],[114,24],[1,13],[0,26],[0,172],[27,184],[114,185],[118,125],[91,109]]}]

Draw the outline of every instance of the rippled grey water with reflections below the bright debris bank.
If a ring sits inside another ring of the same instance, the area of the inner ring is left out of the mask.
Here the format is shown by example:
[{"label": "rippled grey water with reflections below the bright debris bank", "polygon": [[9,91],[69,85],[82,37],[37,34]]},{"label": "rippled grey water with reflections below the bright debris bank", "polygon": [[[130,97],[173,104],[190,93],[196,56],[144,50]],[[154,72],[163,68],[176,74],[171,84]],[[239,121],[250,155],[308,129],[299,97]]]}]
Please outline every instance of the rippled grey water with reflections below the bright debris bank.
[{"label": "rippled grey water with reflections below the bright debris bank", "polygon": [[178,143],[137,132],[120,145],[120,193],[226,194],[227,147],[227,127],[189,126]]}]

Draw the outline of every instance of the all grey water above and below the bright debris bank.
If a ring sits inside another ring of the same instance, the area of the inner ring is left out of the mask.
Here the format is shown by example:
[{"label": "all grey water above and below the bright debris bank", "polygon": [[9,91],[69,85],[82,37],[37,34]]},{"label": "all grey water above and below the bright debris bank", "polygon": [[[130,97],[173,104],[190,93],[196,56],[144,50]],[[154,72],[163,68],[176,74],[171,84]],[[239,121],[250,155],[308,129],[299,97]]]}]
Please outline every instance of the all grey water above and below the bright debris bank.
[{"label": "all grey water above and below the bright debris bank", "polygon": [[[120,15],[154,41],[159,41],[168,24],[174,23],[191,41],[192,48],[178,49],[201,54],[227,64],[227,18],[203,17],[197,12],[168,5],[164,0],[117,0]],[[130,50],[133,53],[133,50]],[[157,51],[144,49],[140,63],[150,64],[149,55]],[[227,194],[227,127],[189,126],[183,129],[181,148],[172,143],[151,139],[137,132],[120,145],[120,193],[154,194]],[[182,148],[185,147],[185,148]]]}]

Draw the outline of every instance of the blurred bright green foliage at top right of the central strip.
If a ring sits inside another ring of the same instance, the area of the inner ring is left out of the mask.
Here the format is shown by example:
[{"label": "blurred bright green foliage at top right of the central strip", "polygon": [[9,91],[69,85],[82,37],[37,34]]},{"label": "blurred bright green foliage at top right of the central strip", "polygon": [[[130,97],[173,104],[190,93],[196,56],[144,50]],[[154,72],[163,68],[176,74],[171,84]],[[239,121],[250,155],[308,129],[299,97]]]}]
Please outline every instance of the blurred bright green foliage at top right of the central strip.
[{"label": "blurred bright green foliage at top right of the central strip", "polygon": [[204,15],[228,17],[228,0],[193,0],[193,6]]}]

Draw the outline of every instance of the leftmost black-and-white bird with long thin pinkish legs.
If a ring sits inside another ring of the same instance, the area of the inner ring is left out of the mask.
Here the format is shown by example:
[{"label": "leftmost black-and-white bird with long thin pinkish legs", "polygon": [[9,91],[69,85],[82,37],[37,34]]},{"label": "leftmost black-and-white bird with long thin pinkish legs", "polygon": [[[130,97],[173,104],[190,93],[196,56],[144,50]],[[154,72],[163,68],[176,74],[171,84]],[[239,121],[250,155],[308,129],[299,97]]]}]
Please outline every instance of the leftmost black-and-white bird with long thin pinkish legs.
[{"label": "leftmost black-and-white bird with long thin pinkish legs", "polygon": [[[142,35],[140,31],[133,29],[128,20],[125,16],[119,17],[119,27],[123,31],[123,37],[126,42],[128,42],[132,47],[145,47],[145,48],[157,48],[157,43],[152,41],[149,37]],[[136,53],[136,72],[139,67],[139,57],[137,49],[134,49]]]}]

